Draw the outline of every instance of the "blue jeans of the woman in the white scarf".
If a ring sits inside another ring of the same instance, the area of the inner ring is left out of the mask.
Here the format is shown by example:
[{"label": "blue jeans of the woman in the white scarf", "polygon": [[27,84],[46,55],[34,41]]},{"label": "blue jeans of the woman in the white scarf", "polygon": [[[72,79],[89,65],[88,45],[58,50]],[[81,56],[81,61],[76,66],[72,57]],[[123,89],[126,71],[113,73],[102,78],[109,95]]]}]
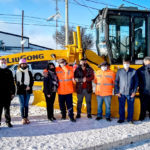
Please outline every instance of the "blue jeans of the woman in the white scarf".
[{"label": "blue jeans of the woman in the white scarf", "polygon": [[28,117],[30,94],[19,95],[20,112],[22,118]]}]

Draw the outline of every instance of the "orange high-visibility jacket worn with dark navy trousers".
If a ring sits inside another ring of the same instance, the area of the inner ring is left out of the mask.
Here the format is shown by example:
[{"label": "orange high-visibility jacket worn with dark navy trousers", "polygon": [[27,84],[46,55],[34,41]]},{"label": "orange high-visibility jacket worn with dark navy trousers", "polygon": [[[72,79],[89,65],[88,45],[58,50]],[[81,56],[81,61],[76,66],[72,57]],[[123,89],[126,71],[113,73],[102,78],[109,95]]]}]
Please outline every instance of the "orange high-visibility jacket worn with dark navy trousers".
[{"label": "orange high-visibility jacket worn with dark navy trousers", "polygon": [[68,65],[63,68],[56,67],[56,74],[59,81],[58,94],[66,95],[73,93],[73,68]]}]

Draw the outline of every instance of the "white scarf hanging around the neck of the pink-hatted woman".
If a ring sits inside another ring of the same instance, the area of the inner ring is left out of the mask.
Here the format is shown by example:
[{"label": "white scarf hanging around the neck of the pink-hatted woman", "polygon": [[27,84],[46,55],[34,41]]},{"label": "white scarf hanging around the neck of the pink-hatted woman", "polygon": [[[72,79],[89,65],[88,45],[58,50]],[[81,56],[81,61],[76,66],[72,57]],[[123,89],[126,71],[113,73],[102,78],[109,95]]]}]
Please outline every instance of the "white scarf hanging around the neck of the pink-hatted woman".
[{"label": "white scarf hanging around the neck of the pink-hatted woman", "polygon": [[[22,73],[24,73],[24,83],[22,83],[21,79],[22,79]],[[23,70],[21,68],[17,69],[17,72],[16,72],[16,79],[17,79],[17,82],[21,84],[24,84],[24,85],[27,85],[29,86],[30,84],[30,76],[29,76],[29,71],[28,71],[28,68]]]}]

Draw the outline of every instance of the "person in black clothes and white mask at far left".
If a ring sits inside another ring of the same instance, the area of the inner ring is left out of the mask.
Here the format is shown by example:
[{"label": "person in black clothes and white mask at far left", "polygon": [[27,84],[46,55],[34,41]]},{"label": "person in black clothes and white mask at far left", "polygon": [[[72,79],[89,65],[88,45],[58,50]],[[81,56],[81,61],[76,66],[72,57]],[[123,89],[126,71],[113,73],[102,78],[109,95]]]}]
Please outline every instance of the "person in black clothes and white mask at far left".
[{"label": "person in black clothes and white mask at far left", "polygon": [[12,72],[7,68],[6,60],[0,59],[0,125],[4,108],[6,124],[12,127],[10,117],[10,104],[15,95],[15,84]]}]

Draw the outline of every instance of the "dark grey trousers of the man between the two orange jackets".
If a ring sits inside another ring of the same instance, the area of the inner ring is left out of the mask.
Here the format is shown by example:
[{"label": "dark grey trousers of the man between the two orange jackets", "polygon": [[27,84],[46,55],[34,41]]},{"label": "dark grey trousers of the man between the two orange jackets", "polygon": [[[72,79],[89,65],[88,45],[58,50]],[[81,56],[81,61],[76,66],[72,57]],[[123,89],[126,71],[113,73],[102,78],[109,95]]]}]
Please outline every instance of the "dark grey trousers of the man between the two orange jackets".
[{"label": "dark grey trousers of the man between the two orange jackets", "polygon": [[82,102],[85,96],[86,105],[87,105],[87,114],[91,115],[91,96],[92,93],[88,93],[87,89],[83,89],[81,94],[77,94],[78,103],[77,103],[77,114],[81,114]]}]

